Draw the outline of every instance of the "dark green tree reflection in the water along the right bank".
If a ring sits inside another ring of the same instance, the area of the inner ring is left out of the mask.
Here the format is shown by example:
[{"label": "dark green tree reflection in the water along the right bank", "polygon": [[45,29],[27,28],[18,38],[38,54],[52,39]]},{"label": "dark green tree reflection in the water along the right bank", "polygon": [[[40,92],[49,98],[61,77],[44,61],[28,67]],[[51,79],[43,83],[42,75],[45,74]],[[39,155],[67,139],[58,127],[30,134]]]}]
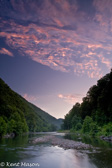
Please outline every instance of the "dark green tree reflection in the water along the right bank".
[{"label": "dark green tree reflection in the water along the right bank", "polygon": [[[79,140],[87,144],[91,144],[94,147],[98,147],[95,152],[83,151],[82,155],[78,152],[78,159],[83,159],[87,152],[89,161],[96,165],[97,168],[112,168],[112,143],[102,141],[99,138],[92,138],[89,136],[80,136],[78,134],[66,134],[66,139]],[[84,155],[83,155],[84,154]],[[91,168],[91,167],[90,167]]]}]

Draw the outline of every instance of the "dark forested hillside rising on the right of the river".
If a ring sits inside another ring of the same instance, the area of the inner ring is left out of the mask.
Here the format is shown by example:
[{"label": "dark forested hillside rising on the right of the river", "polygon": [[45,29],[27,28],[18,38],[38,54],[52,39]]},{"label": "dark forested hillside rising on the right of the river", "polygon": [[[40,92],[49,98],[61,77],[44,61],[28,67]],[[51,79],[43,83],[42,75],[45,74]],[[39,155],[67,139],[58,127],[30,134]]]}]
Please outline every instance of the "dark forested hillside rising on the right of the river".
[{"label": "dark forested hillside rising on the right of the river", "polygon": [[112,71],[97,81],[66,114],[64,129],[112,135]]}]

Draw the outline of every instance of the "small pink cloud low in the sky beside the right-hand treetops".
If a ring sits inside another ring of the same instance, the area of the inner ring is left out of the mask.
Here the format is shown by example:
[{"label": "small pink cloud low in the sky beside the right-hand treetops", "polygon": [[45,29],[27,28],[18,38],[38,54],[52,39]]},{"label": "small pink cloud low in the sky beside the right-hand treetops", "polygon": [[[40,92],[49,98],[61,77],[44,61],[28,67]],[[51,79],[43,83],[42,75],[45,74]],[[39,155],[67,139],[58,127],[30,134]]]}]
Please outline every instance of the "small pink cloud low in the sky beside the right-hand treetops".
[{"label": "small pink cloud low in the sky beside the right-hand treetops", "polygon": [[83,95],[80,94],[68,94],[68,95],[63,95],[63,94],[59,94],[58,95],[59,98],[63,99],[65,102],[69,103],[69,104],[75,104],[76,102],[82,102],[82,97]]}]

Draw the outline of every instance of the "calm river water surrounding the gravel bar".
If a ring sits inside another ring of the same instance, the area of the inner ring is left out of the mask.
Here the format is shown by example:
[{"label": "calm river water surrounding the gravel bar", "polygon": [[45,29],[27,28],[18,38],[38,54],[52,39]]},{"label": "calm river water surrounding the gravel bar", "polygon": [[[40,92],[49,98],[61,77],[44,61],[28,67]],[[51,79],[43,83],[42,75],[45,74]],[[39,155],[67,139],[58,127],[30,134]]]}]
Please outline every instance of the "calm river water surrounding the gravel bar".
[{"label": "calm river water surrounding the gravel bar", "polygon": [[[45,134],[45,133],[44,133]],[[47,133],[48,134],[48,133]],[[74,134],[50,133],[94,146],[94,150],[63,149],[49,143],[32,144],[40,134],[30,134],[0,141],[0,167],[11,168],[112,168],[112,144]]]}]

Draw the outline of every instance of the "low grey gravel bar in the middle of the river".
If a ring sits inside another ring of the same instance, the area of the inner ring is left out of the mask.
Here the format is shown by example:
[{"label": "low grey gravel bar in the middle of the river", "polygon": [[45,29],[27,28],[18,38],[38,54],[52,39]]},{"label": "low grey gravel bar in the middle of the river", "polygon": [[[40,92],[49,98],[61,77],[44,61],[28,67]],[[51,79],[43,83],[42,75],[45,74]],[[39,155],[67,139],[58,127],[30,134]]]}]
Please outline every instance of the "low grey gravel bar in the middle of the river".
[{"label": "low grey gravel bar in the middle of the river", "polygon": [[36,138],[32,141],[33,144],[46,143],[49,142],[54,146],[59,146],[64,149],[92,149],[92,146],[78,141],[58,138],[53,135],[47,135],[43,137]]}]

